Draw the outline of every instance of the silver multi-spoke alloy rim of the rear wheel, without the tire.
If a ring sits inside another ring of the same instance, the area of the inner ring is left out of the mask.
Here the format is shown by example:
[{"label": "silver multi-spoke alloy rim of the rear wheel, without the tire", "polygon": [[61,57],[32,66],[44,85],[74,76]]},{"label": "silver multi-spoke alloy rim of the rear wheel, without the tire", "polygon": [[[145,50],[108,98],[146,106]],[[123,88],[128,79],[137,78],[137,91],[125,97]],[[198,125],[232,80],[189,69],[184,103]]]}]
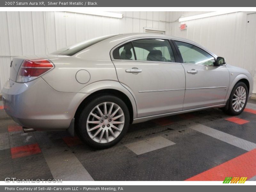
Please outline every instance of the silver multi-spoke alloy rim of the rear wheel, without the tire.
[{"label": "silver multi-spoke alloy rim of the rear wheel, without the tire", "polygon": [[92,140],[98,143],[108,143],[122,132],[124,120],[124,112],[116,103],[100,103],[90,112],[86,130]]}]

